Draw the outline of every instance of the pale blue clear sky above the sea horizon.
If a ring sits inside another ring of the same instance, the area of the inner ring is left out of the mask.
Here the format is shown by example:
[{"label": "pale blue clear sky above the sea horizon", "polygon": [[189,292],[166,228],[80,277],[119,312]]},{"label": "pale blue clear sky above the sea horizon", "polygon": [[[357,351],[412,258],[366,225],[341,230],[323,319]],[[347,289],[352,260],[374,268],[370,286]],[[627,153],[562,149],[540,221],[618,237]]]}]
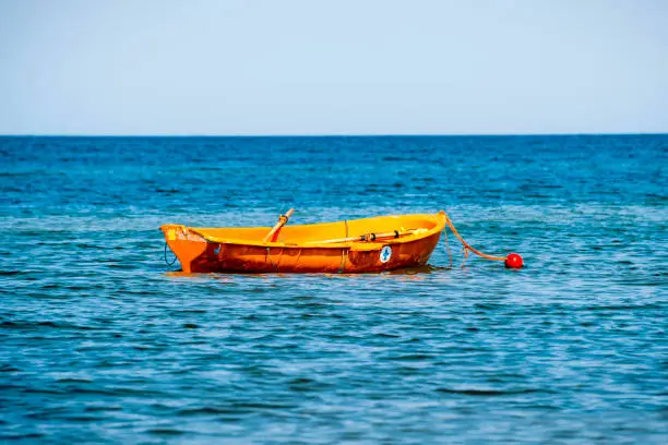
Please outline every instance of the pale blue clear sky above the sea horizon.
[{"label": "pale blue clear sky above the sea horizon", "polygon": [[668,132],[663,0],[0,0],[0,134]]}]

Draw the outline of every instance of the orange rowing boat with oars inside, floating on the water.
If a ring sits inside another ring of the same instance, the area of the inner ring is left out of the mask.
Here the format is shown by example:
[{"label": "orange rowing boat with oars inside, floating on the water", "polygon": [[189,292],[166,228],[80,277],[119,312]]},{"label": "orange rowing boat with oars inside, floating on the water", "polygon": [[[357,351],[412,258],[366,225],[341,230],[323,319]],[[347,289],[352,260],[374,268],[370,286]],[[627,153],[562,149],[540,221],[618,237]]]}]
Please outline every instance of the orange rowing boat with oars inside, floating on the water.
[{"label": "orange rowing boat with oars inside, floating on the water", "polygon": [[448,217],[380,216],[283,227],[160,227],[184,273],[363,273],[427,263]]}]

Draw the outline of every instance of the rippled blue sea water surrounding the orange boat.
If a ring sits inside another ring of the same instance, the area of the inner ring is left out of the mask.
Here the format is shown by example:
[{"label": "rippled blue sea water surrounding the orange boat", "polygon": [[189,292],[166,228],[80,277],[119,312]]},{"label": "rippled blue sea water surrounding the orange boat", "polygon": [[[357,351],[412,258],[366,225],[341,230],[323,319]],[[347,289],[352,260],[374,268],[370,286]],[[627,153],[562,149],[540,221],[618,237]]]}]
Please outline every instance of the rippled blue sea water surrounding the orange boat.
[{"label": "rippled blue sea water surrounding the orange boat", "polygon": [[[666,444],[667,168],[668,135],[0,137],[0,442]],[[290,207],[442,208],[526,267],[165,263],[162,224]]]}]

